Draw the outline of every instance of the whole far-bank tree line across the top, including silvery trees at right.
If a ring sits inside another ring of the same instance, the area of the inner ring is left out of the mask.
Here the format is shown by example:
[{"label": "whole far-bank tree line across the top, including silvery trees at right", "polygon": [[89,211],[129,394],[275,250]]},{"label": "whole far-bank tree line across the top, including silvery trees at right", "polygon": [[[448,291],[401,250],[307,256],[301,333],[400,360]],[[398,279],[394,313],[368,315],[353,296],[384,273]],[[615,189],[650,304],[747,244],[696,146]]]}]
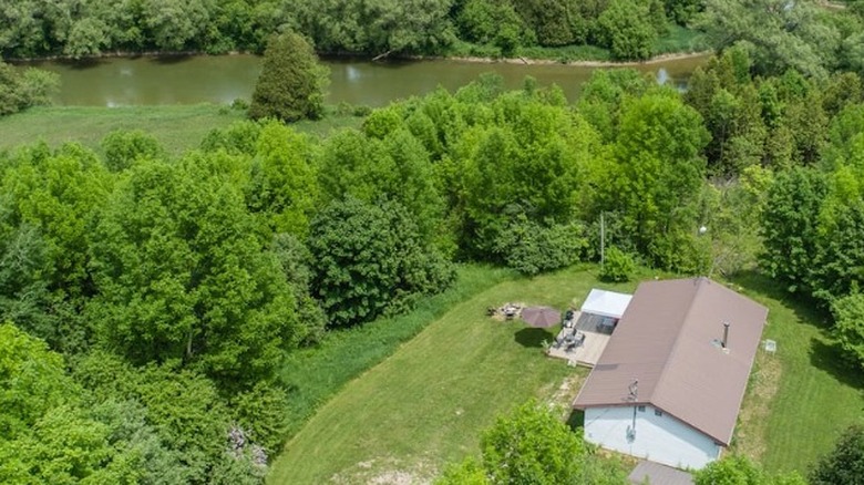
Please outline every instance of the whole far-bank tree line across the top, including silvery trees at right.
[{"label": "whole far-bank tree line across the top, including silvery trees at right", "polygon": [[260,53],[274,32],[294,30],[326,53],[513,56],[522,48],[592,45],[614,60],[642,60],[681,25],[704,32],[709,47],[745,42],[758,64],[810,75],[864,65],[864,9],[846,4],[831,11],[813,0],[3,0],[0,56]]}]

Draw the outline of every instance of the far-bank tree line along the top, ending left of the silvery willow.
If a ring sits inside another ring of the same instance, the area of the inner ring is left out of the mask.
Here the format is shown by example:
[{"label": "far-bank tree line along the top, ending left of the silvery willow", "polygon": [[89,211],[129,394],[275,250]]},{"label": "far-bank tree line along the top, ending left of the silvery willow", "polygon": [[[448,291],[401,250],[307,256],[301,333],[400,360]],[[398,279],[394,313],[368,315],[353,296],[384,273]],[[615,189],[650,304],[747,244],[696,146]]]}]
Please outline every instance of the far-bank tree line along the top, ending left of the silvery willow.
[{"label": "far-bank tree line along the top, ending left of the silvery willow", "polygon": [[593,44],[645,59],[701,0],[4,0],[0,55],[80,59],[110,52],[261,52],[297,30],[323,52],[445,54],[462,42],[515,48]]}]

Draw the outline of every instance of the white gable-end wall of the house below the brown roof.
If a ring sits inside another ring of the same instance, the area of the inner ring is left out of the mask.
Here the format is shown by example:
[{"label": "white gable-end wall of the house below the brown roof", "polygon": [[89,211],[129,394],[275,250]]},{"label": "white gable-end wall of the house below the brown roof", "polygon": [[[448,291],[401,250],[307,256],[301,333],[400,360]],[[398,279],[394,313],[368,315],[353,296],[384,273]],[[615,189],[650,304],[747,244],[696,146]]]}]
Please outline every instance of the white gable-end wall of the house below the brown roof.
[{"label": "white gable-end wall of the house below the brown roof", "polygon": [[585,410],[585,440],[608,450],[692,469],[717,460],[722,450],[711,437],[669,414],[658,416],[651,405],[636,412],[636,433],[628,437],[632,424],[632,406],[589,407]]}]

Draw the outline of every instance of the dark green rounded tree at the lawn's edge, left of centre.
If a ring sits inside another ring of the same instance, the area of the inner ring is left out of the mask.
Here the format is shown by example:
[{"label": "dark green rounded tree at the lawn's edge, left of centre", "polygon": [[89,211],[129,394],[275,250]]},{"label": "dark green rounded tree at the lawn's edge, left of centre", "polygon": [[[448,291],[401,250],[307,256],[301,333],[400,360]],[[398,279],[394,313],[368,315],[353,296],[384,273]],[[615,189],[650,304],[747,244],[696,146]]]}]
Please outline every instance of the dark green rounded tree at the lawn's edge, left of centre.
[{"label": "dark green rounded tree at the lawn's edge, left of centre", "polygon": [[335,200],[312,221],[312,286],[333,326],[362,323],[411,306],[453,278],[399,203]]}]

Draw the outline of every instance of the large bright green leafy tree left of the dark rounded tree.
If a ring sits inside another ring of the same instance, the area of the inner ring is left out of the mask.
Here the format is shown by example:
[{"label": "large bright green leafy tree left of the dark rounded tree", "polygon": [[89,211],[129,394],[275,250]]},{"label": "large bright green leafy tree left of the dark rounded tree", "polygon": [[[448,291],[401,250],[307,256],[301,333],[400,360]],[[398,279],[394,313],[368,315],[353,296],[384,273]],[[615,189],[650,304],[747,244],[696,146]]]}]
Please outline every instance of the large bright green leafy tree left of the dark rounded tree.
[{"label": "large bright green leafy tree left of the dark rounded tree", "polygon": [[222,382],[266,378],[301,331],[239,192],[203,159],[134,167],[93,244],[100,339],[137,363],[181,359]]}]

